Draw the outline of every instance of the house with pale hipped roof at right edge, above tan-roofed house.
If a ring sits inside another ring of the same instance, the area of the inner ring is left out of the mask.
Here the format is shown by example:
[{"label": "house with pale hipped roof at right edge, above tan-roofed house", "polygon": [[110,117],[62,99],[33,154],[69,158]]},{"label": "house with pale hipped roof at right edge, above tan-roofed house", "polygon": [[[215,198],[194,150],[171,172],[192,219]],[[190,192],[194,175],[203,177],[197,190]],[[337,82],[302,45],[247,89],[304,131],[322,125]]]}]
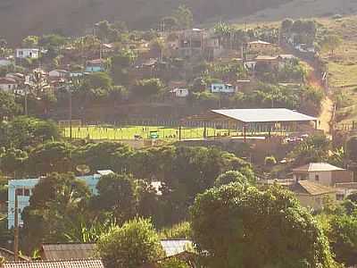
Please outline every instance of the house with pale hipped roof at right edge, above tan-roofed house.
[{"label": "house with pale hipped roof at right edge, above tan-roofed house", "polygon": [[335,187],[336,183],[353,182],[353,172],[329,163],[308,163],[293,169],[296,181],[310,180],[325,186]]}]

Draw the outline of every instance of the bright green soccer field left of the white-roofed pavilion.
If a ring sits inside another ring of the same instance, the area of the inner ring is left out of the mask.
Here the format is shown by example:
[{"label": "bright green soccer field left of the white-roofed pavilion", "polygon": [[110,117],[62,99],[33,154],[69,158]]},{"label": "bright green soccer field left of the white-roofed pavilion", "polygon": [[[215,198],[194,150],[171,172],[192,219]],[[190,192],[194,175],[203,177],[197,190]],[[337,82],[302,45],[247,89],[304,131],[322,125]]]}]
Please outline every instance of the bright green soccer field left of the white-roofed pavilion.
[{"label": "bright green soccer field left of the white-roofed pavilion", "polygon": [[[64,137],[70,137],[70,128],[63,128]],[[207,137],[232,135],[229,130],[214,130],[207,128]],[[136,139],[159,138],[179,139],[179,128],[166,128],[157,126],[126,126],[126,127],[101,127],[81,126],[72,127],[72,138],[88,139]],[[203,128],[182,128],[181,139],[203,138]]]}]

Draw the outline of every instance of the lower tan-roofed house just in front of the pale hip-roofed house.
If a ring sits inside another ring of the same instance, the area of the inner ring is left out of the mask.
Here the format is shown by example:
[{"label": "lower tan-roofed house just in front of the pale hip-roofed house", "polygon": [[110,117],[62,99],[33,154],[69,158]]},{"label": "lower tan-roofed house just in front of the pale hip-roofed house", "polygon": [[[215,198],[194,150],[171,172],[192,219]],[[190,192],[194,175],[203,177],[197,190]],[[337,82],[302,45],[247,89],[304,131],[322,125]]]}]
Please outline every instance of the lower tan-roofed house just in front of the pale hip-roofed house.
[{"label": "lower tan-roofed house just in front of the pale hip-roofed house", "polygon": [[298,180],[290,187],[300,204],[314,210],[323,208],[327,200],[336,202],[336,188],[330,188],[310,180]]}]

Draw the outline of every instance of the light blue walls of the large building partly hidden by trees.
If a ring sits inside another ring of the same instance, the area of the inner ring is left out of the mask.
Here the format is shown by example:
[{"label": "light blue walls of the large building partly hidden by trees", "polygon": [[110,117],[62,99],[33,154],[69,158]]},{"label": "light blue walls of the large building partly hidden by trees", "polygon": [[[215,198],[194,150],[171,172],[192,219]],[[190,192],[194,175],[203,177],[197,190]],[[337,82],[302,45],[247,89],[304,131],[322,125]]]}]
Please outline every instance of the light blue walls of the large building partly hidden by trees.
[{"label": "light blue walls of the large building partly hidden by trees", "polygon": [[[97,194],[96,184],[101,175],[94,174],[90,176],[79,176],[79,180],[84,180],[93,195]],[[21,189],[22,195],[18,195],[19,204],[19,224],[23,224],[21,213],[23,209],[29,206],[29,197],[32,196],[32,190],[37,185],[39,179],[24,179],[24,180],[9,180],[8,185],[8,207],[7,207],[7,226],[12,229],[14,226],[14,212],[15,212],[15,191]]]}]

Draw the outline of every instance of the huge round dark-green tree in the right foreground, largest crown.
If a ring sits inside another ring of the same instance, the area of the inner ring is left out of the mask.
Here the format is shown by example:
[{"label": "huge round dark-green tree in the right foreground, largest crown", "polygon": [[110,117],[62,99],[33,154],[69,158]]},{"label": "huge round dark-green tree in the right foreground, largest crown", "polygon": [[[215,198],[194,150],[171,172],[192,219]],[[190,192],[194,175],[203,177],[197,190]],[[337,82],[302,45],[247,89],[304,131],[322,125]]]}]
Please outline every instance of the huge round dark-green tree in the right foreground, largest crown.
[{"label": "huge round dark-green tree in the right foreground, largest crown", "polygon": [[191,219],[193,241],[212,267],[334,267],[318,223],[278,186],[209,189],[196,197]]}]

